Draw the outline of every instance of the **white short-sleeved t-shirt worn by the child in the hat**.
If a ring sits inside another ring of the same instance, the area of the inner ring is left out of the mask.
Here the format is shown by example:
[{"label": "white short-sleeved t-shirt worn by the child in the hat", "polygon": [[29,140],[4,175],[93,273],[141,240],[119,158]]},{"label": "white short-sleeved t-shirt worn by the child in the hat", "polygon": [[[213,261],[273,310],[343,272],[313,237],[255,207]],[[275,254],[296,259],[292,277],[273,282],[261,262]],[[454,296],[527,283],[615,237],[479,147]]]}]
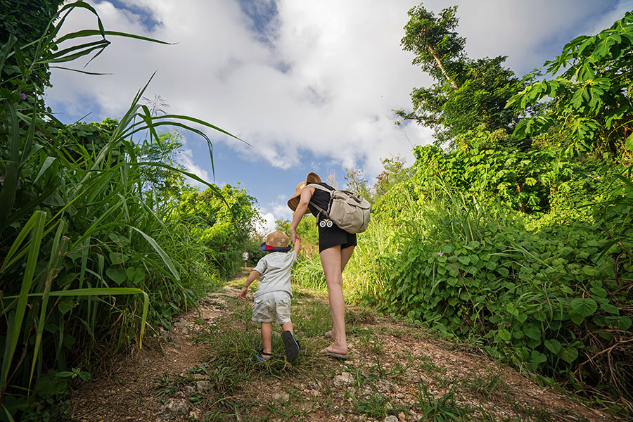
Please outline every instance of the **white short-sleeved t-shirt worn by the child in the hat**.
[{"label": "white short-sleeved t-shirt worn by the child in the hat", "polygon": [[297,260],[297,254],[292,252],[270,252],[257,262],[253,271],[260,274],[260,287],[257,288],[255,298],[269,292],[287,292],[291,297],[290,267]]}]

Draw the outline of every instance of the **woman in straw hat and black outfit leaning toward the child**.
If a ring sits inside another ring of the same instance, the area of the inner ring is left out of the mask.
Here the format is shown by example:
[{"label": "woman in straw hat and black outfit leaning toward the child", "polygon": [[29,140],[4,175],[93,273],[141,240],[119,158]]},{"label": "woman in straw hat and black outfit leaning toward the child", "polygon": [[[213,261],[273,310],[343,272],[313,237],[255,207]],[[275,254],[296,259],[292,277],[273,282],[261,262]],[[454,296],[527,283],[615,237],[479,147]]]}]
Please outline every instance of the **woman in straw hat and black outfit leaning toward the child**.
[{"label": "woman in straw hat and black outfit leaning toward the child", "polygon": [[343,269],[354,252],[356,235],[339,229],[336,224],[326,219],[314,205],[310,204],[312,201],[312,203],[327,210],[330,202],[330,194],[326,191],[306,187],[306,185],[314,183],[333,190],[332,186],[323,183],[315,173],[309,173],[305,181],[297,185],[295,194],[288,200],[288,207],[295,212],[293,222],[290,224],[290,241],[294,243],[297,238],[297,226],[303,215],[312,212],[319,225],[319,255],[321,255],[321,265],[328,285],[328,299],[332,316],[332,330],[328,331],[326,336],[334,340],[331,345],[321,350],[321,354],[345,359],[347,358],[347,339],[345,338]]}]

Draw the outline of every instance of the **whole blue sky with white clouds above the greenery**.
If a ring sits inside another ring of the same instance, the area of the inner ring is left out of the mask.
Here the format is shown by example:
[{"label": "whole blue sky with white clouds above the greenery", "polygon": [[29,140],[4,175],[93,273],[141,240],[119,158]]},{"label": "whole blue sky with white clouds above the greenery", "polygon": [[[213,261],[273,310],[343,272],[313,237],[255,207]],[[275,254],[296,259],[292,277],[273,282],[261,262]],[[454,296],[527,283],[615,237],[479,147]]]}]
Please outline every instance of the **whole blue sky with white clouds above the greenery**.
[{"label": "whole blue sky with white clouds above the greenery", "polygon": [[[290,219],[286,205],[308,172],[345,186],[345,169],[371,184],[385,158],[414,162],[413,148],[433,141],[414,123],[397,126],[394,109],[433,80],[411,64],[400,40],[409,0],[89,0],[106,30],[171,45],[108,37],[112,44],[83,75],[53,69],[46,103],[65,123],[120,117],[155,72],[146,97],[167,113],[189,115],[245,142],[205,129],[213,144],[182,132],[178,161],[219,186],[257,198],[265,224]],[[558,56],[563,45],[595,34],[633,10],[633,0],[423,1],[436,15],[458,6],[457,31],[471,58],[507,56],[523,76]],[[63,33],[96,28],[77,9]],[[82,68],[78,63],[76,68]],[[84,117],[85,116],[85,117]],[[247,144],[248,143],[248,144]],[[192,184],[196,184],[191,182]]]}]

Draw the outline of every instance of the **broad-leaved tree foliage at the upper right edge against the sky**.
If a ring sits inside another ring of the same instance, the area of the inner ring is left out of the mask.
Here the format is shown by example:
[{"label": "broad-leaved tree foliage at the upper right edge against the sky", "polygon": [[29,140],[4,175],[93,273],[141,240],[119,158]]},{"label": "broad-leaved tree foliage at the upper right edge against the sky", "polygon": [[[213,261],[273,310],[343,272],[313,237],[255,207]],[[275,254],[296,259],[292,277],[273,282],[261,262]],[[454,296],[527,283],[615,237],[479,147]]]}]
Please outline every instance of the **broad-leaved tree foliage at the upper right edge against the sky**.
[{"label": "broad-leaved tree foliage at the upper right edge against the sky", "polygon": [[[518,136],[533,136],[561,124],[569,134],[566,153],[633,151],[633,12],[593,37],[565,44],[546,62],[553,79],[535,82],[513,96],[509,108],[523,109],[553,98],[546,113],[517,125]],[[561,68],[568,68],[557,75]]]}]

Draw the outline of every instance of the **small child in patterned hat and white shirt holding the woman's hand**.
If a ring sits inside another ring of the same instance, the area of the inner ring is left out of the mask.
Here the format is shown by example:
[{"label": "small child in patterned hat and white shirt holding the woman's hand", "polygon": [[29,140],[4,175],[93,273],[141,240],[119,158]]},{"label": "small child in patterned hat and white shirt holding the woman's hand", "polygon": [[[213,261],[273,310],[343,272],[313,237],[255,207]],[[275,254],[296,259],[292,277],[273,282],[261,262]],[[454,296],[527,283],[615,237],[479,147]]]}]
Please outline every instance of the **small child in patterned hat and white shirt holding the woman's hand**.
[{"label": "small child in patterned hat and white shirt holding the woman's hand", "polygon": [[272,321],[281,325],[281,339],[286,347],[288,362],[297,359],[299,343],[293,335],[293,323],[290,321],[290,299],[293,290],[290,288],[290,267],[297,260],[301,248],[299,239],[295,242],[295,250],[288,252],[288,236],[281,231],[274,231],[266,236],[260,249],[268,252],[244,282],[240,298],[246,299],[250,283],[260,278],[260,286],[255,293],[255,305],[252,307],[252,321],[260,322],[262,328],[262,347],[255,357],[266,362],[272,356]]}]

